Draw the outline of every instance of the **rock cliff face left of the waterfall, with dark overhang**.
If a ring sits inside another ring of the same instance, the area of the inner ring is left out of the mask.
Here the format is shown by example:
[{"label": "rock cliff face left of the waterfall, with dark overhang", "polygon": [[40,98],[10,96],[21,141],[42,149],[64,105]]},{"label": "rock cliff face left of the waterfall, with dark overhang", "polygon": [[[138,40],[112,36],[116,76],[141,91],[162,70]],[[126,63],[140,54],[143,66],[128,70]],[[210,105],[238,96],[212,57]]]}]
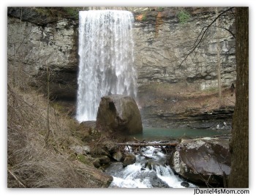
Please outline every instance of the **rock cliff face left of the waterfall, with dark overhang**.
[{"label": "rock cliff face left of the waterfall, with dark overhang", "polygon": [[22,81],[45,91],[48,67],[51,97],[75,100],[78,20],[43,8],[9,7],[7,22],[8,75],[20,79],[16,85]]}]

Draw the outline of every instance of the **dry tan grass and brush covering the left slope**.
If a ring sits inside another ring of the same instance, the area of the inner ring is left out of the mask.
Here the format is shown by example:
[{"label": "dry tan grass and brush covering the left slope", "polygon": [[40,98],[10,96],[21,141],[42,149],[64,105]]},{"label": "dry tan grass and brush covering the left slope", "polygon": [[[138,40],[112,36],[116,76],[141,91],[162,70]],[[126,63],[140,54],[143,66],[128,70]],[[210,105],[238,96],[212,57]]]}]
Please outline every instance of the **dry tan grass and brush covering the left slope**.
[{"label": "dry tan grass and brush covering the left slope", "polygon": [[70,144],[81,143],[72,135],[79,124],[54,108],[50,108],[50,145],[45,146],[46,108],[42,95],[8,86],[7,186],[105,186],[91,178],[95,168],[70,159]]}]

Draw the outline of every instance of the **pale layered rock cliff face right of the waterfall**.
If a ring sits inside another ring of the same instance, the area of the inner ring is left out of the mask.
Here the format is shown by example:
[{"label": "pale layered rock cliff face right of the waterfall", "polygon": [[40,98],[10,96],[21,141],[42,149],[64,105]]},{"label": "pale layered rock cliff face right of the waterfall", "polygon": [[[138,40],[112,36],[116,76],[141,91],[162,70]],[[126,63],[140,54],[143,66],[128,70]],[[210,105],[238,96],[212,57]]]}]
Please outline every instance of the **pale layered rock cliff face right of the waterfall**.
[{"label": "pale layered rock cliff face right of the waterfall", "polygon": [[[222,8],[219,12],[227,10]],[[187,7],[190,17],[178,20],[177,7],[162,7],[135,12],[135,64],[138,83],[198,83],[201,89],[217,86],[217,27],[208,28],[198,48],[183,61],[201,39],[202,29],[217,17],[214,8]],[[236,78],[232,12],[219,17],[222,84],[230,86]],[[198,37],[199,36],[199,37]],[[197,42],[196,42],[197,41]],[[182,62],[183,61],[183,62]],[[182,64],[181,64],[182,63]]]}]

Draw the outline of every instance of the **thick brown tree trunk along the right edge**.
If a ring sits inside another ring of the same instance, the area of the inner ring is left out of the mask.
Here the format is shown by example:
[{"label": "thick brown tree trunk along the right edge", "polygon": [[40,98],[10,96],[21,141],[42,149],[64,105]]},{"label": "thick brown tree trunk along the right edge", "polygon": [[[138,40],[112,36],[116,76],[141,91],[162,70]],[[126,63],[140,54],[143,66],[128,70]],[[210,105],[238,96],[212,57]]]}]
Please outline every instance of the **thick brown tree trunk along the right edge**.
[{"label": "thick brown tree trunk along the right edge", "polygon": [[228,186],[249,187],[249,8],[236,7],[236,107]]}]

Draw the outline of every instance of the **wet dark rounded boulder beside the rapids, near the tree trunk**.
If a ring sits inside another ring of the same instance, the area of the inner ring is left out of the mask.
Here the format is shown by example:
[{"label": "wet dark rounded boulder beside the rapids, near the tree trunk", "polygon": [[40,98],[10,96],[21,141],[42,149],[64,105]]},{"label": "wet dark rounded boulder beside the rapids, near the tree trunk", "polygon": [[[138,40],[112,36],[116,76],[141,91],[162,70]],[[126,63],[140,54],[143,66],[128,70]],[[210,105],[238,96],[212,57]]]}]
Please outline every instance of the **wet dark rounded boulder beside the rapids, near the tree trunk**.
[{"label": "wet dark rounded boulder beside the rapids, near the tree trunk", "polygon": [[228,139],[182,140],[170,157],[170,166],[178,175],[198,184],[224,186],[230,165]]}]

